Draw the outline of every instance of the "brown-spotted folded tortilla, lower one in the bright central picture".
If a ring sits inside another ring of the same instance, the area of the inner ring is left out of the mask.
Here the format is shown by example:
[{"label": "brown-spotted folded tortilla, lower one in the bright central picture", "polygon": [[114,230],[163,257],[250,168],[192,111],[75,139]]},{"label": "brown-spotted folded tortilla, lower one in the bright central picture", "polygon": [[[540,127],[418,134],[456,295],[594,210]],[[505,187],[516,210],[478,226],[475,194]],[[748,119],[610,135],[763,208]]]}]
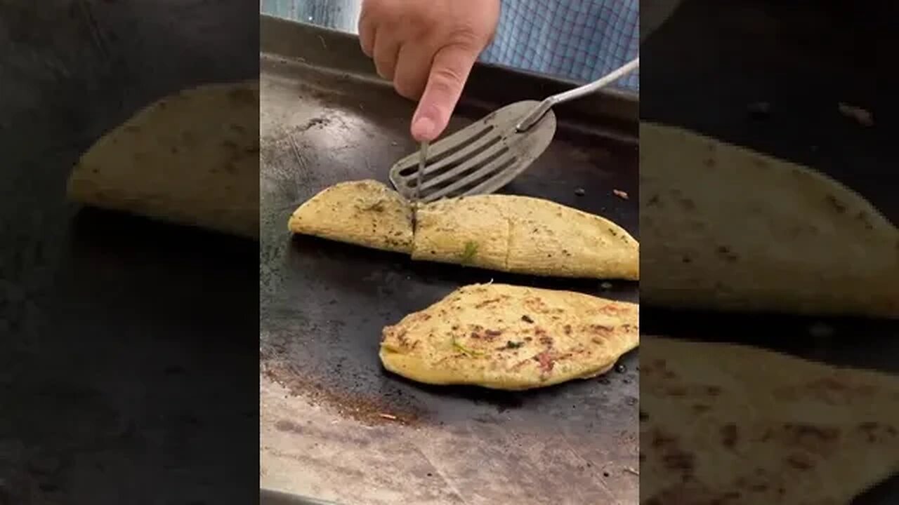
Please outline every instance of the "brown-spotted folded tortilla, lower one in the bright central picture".
[{"label": "brown-spotted folded tortilla, lower one in the bright central picture", "polygon": [[380,359],[425,384],[520,390],[599,376],[639,341],[639,307],[476,284],[384,328]]}]

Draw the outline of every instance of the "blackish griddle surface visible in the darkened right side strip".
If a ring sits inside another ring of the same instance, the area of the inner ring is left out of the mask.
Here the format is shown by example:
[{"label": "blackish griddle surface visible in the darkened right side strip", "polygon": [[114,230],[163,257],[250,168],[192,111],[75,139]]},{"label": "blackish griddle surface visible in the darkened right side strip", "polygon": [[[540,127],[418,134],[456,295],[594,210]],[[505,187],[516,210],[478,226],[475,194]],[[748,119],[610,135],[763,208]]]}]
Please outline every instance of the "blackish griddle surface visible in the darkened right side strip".
[{"label": "blackish griddle surface visible in the darkened right side strip", "polygon": [[[889,104],[895,93],[886,93],[895,88],[888,58],[897,37],[885,20],[895,20],[892,6],[878,2],[685,1],[641,49],[641,119],[812,166],[899,224],[890,115],[895,106]],[[768,113],[757,112],[753,104],[759,102],[769,104]],[[843,117],[838,102],[873,111],[874,127],[859,128]],[[641,332],[748,343],[834,365],[899,372],[895,321],[643,306]],[[886,505],[897,497],[899,476],[853,505]]]}]

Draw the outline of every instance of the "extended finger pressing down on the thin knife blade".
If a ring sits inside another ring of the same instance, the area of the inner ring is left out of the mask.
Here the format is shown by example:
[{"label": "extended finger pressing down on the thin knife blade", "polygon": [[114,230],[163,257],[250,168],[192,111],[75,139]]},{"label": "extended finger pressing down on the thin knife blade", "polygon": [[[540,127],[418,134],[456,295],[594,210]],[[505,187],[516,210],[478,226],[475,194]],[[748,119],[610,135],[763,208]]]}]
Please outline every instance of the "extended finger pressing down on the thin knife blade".
[{"label": "extended finger pressing down on the thin knife blade", "polygon": [[447,128],[476,59],[476,50],[461,45],[446,46],[434,55],[428,84],[412,117],[416,141],[430,142]]}]

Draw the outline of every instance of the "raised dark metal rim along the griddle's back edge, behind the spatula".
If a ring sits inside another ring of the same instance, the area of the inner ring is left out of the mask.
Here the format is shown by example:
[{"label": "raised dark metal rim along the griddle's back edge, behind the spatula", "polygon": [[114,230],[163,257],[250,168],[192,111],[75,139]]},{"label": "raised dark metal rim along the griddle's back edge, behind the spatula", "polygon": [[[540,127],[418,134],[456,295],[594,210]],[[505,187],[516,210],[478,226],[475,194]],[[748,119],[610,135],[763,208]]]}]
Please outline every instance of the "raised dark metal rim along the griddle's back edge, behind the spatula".
[{"label": "raised dark metal rim along the griddle's back edge, behind the spatula", "polygon": [[[261,57],[270,54],[390,86],[378,76],[374,63],[362,52],[359,37],[345,31],[260,14],[259,50]],[[468,78],[463,100],[482,102],[495,109],[521,100],[542,100],[581,84],[478,62]],[[581,123],[593,134],[601,129],[621,141],[638,142],[640,100],[637,93],[606,88],[574,102],[557,105],[554,111],[574,128]]]}]

